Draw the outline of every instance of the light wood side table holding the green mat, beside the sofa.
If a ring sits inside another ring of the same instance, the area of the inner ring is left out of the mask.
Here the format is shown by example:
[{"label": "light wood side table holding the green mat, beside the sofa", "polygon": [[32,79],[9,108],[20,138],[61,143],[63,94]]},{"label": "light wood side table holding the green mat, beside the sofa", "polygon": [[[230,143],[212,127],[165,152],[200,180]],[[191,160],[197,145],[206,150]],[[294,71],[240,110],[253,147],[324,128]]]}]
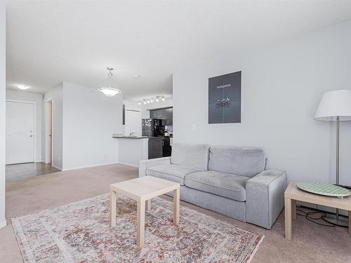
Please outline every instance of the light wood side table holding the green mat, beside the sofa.
[{"label": "light wood side table holding the green mat, beside the sofa", "polygon": [[344,198],[321,196],[298,189],[296,181],[291,181],[284,193],[285,201],[285,238],[291,240],[291,221],[296,220],[296,201],[325,205],[349,212],[349,234],[351,235],[351,196]]}]

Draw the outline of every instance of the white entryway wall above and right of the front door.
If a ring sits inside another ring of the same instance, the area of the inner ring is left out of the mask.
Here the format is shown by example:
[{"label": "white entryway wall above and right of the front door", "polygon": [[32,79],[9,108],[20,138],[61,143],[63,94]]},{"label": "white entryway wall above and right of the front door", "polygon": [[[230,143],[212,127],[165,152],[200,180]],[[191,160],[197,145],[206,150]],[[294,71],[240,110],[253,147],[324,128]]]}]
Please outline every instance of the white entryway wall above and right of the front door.
[{"label": "white entryway wall above and right of the front door", "polygon": [[42,104],[43,95],[39,93],[29,93],[22,90],[6,90],[6,100],[16,100],[22,102],[34,102],[35,104],[35,160],[36,162],[45,160],[45,156],[41,156],[41,134],[42,130]]}]

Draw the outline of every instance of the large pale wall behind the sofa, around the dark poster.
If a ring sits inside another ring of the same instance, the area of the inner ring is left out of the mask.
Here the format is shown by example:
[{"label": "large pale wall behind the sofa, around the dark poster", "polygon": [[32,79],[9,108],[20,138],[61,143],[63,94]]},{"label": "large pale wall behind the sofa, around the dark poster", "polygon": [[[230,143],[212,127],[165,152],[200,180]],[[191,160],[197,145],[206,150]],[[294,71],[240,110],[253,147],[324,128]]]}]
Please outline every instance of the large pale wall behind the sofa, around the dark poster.
[{"label": "large pale wall behind the sofa, around the dark poster", "polygon": [[[264,51],[182,65],[173,73],[175,142],[265,147],[270,167],[289,180],[334,182],[335,126],[313,118],[324,92],[351,89],[350,32],[346,22]],[[208,78],[239,70],[241,123],[208,124]],[[340,181],[351,185],[351,122],[341,124]]]}]

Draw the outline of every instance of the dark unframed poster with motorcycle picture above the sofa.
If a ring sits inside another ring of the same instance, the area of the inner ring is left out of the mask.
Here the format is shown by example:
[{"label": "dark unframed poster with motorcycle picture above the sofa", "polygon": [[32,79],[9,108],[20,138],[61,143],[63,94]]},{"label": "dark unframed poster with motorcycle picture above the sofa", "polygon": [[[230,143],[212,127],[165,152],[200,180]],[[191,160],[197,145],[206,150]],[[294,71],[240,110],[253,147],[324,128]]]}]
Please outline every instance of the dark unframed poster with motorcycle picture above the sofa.
[{"label": "dark unframed poster with motorcycle picture above the sofa", "polygon": [[208,79],[208,123],[241,122],[241,72]]}]

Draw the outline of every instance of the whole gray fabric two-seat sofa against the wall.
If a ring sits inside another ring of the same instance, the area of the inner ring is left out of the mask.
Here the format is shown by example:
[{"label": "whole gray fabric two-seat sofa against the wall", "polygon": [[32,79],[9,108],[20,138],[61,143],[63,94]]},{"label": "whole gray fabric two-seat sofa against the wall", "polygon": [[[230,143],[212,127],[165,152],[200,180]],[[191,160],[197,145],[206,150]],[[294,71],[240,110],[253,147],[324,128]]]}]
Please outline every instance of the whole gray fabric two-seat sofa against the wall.
[{"label": "whole gray fabric two-seat sofa against the wall", "polygon": [[266,163],[260,148],[173,144],[171,157],[140,161],[139,177],[179,182],[181,200],[270,229],[284,208],[286,172]]}]

